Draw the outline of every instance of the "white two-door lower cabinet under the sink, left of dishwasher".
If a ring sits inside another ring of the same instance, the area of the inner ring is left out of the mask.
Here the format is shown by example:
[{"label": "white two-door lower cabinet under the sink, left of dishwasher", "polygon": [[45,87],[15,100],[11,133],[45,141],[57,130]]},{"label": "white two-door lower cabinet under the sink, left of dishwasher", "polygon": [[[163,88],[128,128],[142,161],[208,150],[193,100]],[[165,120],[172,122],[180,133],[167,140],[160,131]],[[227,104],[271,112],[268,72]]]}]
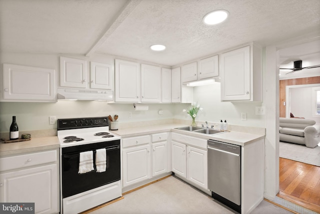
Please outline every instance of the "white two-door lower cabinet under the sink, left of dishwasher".
[{"label": "white two-door lower cabinet under the sink, left of dishwasher", "polygon": [[206,140],[172,133],[171,146],[172,172],[207,189]]}]

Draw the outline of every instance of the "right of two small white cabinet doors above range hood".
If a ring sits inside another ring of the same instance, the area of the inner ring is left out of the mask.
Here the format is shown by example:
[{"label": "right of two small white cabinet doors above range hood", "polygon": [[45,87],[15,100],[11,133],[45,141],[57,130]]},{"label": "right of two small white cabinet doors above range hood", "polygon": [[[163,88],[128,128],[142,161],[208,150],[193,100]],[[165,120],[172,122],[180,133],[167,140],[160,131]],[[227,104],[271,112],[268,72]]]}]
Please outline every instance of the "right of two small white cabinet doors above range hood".
[{"label": "right of two small white cabinet doors above range hood", "polygon": [[112,66],[110,64],[91,61],[90,87],[112,89]]}]

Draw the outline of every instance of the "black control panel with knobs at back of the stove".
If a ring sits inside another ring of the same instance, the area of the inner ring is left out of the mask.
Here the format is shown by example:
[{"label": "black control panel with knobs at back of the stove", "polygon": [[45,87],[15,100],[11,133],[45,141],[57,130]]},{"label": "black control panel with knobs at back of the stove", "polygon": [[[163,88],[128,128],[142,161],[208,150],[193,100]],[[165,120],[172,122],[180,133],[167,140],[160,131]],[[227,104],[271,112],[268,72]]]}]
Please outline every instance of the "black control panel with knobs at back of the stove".
[{"label": "black control panel with knobs at back of the stove", "polygon": [[108,126],[108,124],[106,116],[57,119],[57,130],[100,127]]}]

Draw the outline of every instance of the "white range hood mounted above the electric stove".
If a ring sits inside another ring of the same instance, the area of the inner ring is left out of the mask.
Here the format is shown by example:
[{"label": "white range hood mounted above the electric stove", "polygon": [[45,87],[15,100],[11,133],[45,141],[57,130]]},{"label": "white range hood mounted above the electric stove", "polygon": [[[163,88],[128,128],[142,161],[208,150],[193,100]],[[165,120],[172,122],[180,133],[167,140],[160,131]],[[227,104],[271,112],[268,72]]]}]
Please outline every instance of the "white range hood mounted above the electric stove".
[{"label": "white range hood mounted above the electric stove", "polygon": [[113,100],[113,91],[58,88],[58,99]]}]

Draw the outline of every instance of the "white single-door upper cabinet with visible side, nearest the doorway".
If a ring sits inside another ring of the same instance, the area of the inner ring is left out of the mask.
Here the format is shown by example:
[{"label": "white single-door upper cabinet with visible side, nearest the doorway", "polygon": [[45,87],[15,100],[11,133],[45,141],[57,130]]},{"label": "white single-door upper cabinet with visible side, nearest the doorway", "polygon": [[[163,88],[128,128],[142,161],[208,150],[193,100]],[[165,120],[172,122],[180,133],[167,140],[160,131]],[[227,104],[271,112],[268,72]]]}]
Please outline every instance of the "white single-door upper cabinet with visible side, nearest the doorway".
[{"label": "white single-door upper cabinet with visible side, nearest the doorway", "polygon": [[221,100],[261,101],[261,49],[244,46],[220,55]]}]

